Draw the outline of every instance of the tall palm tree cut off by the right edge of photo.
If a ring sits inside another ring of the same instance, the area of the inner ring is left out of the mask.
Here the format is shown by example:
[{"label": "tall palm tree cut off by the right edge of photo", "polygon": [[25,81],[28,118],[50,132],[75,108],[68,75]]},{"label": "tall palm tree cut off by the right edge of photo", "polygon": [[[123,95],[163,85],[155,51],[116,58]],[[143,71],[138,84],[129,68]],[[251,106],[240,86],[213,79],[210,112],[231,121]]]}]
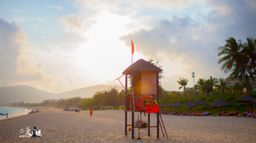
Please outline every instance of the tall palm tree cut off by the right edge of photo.
[{"label": "tall palm tree cut off by the right edge of photo", "polygon": [[247,43],[243,45],[244,53],[250,58],[250,67],[256,76],[256,39],[251,37],[247,38]]}]

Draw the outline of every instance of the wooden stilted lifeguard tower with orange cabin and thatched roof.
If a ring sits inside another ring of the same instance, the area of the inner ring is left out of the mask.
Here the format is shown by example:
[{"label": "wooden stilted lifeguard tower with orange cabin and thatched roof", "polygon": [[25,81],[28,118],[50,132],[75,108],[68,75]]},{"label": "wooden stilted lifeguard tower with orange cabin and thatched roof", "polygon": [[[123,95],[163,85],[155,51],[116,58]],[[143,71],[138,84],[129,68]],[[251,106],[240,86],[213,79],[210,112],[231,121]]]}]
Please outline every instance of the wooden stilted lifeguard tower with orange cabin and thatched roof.
[{"label": "wooden stilted lifeguard tower with orange cabin and thatched roof", "polygon": [[[154,96],[157,99],[157,103],[159,102],[159,72],[162,70],[147,62],[143,59],[138,60],[128,68],[126,68],[122,74],[125,75],[125,135],[127,135],[127,126],[131,126],[131,136],[134,139],[134,112],[141,112],[141,110],[134,109],[134,102],[130,100],[131,95],[127,93],[127,78],[128,75],[133,74],[133,87],[134,87],[134,98],[139,100],[145,95]],[[130,102],[131,101],[131,102]],[[132,121],[131,125],[127,124],[127,112],[131,110],[132,112]],[[148,128],[148,136],[150,136],[150,128],[157,128],[157,138],[159,138],[159,112],[157,114],[157,126],[149,126]],[[150,114],[148,114],[148,123],[150,125]]]}]

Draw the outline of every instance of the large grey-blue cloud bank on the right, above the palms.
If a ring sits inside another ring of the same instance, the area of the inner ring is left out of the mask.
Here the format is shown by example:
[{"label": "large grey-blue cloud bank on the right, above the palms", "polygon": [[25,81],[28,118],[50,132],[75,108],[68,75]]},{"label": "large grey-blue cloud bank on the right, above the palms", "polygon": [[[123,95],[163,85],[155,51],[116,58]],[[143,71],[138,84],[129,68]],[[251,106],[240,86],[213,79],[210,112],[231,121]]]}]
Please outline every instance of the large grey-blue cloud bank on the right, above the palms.
[{"label": "large grey-blue cloud bank on the right, above the palms", "polygon": [[170,82],[168,80],[172,78],[189,78],[192,72],[197,74],[197,79],[224,78],[221,65],[217,64],[218,47],[223,46],[230,36],[255,38],[256,10],[249,8],[246,1],[206,0],[205,4],[212,10],[201,14],[201,20],[186,14],[173,14],[170,19],[160,19],[150,29],[131,32],[121,36],[120,40],[130,47],[133,39],[135,52],[160,61],[166,69],[164,82]]}]

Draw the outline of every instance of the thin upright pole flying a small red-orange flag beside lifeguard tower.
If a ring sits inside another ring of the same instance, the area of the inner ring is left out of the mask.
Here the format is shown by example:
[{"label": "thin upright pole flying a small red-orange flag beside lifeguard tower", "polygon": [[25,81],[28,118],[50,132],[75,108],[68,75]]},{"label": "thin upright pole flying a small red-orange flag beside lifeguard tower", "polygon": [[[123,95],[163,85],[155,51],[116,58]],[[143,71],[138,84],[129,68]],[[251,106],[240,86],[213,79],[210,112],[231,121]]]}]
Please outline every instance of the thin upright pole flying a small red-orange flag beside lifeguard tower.
[{"label": "thin upright pole flying a small red-orange flag beside lifeguard tower", "polygon": [[132,39],[131,39],[131,95],[132,95],[132,109],[131,109],[131,128],[132,128],[132,131],[131,131],[131,139],[134,139],[134,87],[133,87],[133,67],[132,67],[132,64],[133,64],[133,61],[132,61],[132,55],[133,55],[133,42],[132,42]]}]

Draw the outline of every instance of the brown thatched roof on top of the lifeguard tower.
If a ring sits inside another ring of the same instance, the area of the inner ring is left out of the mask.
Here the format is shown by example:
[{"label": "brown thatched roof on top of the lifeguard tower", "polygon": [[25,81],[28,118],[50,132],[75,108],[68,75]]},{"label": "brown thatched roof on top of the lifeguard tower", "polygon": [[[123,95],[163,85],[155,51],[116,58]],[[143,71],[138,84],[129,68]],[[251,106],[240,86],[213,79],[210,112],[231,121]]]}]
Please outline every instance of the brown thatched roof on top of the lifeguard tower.
[{"label": "brown thatched roof on top of the lifeguard tower", "polygon": [[[161,72],[162,70],[155,66],[154,64],[151,64],[150,62],[147,62],[143,59],[139,59],[137,62],[132,64],[133,72],[138,73],[141,71],[156,71],[156,72]],[[122,74],[128,74],[131,75],[131,65],[127,67]]]}]

